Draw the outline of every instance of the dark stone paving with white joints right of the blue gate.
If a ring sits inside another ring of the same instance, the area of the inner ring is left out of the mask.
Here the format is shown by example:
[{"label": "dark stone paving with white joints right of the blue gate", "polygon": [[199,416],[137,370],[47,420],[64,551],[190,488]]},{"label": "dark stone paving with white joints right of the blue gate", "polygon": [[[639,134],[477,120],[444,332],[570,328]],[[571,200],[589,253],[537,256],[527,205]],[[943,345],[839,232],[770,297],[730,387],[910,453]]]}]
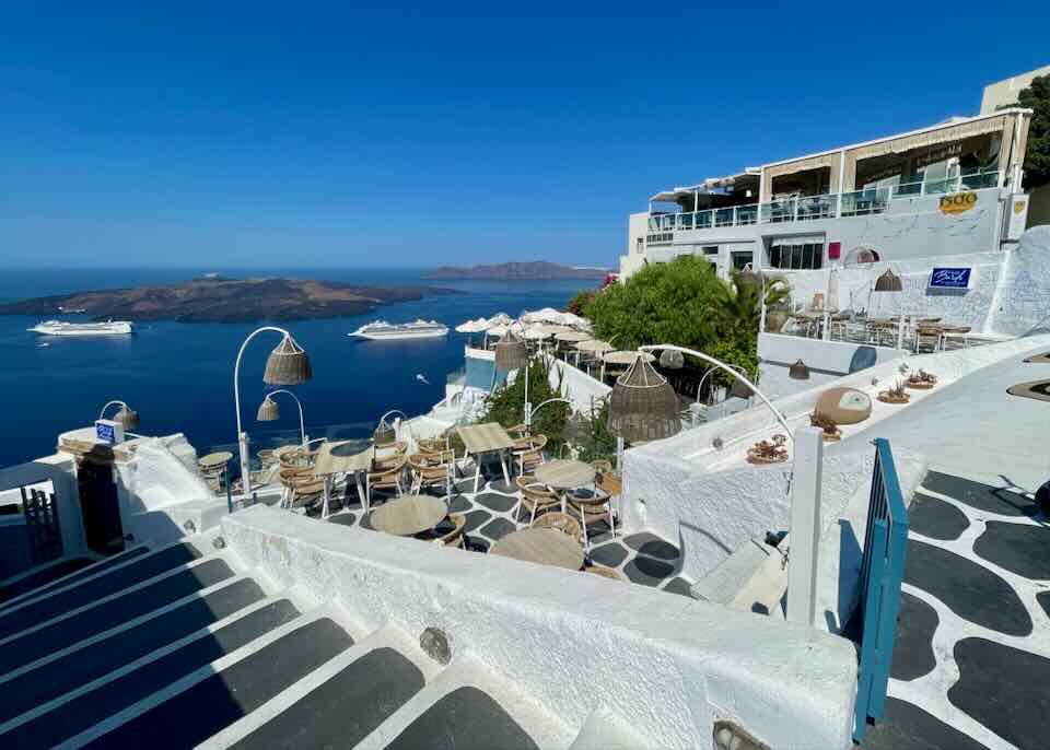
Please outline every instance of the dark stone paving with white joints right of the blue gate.
[{"label": "dark stone paving with white joints right of the blue gate", "polygon": [[936,471],[910,515],[886,715],[863,748],[1050,748],[1047,519],[1017,488]]}]

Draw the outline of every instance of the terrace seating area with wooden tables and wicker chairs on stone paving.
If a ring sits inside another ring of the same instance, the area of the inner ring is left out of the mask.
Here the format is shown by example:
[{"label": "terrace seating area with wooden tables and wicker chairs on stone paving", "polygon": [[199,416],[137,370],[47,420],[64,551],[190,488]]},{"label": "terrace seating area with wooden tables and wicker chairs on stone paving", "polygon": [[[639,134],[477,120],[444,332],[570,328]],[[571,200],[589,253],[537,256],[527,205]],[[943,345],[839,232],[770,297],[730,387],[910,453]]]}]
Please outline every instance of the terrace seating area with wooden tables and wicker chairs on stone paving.
[{"label": "terrace seating area with wooden tables and wicker chairs on stone paving", "polygon": [[[447,437],[313,441],[260,452],[278,506],[318,520],[688,595],[674,544],[617,530],[620,477],[609,461],[550,459],[525,425],[457,429]],[[262,455],[265,453],[265,455]]]}]

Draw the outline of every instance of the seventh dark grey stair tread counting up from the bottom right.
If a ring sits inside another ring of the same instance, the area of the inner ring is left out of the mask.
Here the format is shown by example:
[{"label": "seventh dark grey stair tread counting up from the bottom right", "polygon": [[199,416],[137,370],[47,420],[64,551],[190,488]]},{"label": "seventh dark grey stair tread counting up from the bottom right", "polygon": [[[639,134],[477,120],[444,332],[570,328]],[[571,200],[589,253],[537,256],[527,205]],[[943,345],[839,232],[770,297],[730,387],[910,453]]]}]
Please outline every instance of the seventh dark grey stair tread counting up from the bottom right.
[{"label": "seventh dark grey stair tread counting up from the bottom right", "polygon": [[85,579],[72,586],[61,586],[23,603],[8,607],[0,611],[0,640],[154,578],[200,556],[197,548],[188,542],[174,544],[144,554],[129,564],[116,565],[103,575],[92,577],[89,574]]}]

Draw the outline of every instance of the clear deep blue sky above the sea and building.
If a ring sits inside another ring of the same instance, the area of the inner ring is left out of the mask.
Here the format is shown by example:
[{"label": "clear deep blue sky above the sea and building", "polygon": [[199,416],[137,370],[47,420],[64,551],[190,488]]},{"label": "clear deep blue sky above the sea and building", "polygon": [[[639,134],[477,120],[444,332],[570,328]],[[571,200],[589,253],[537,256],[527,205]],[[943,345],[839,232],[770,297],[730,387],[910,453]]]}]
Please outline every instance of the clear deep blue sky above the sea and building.
[{"label": "clear deep blue sky above the sea and building", "polygon": [[1050,62],[1045,0],[14,4],[0,268],[612,265],[657,189]]}]

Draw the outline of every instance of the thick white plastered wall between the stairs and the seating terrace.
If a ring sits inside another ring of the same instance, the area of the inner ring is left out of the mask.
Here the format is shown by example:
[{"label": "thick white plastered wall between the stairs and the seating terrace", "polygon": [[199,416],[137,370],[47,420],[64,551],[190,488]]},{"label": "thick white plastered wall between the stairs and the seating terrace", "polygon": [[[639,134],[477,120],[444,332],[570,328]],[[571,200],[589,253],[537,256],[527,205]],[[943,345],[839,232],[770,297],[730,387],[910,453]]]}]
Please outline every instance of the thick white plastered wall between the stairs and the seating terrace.
[{"label": "thick white plastered wall between the stairs and the seating terrace", "polygon": [[845,750],[856,657],[845,640],[643,586],[255,506],[222,520],[230,548],[281,587],[337,600],[366,630],[448,637],[584,726],[619,716],[658,748],[710,748],[732,719],[770,748]]}]

